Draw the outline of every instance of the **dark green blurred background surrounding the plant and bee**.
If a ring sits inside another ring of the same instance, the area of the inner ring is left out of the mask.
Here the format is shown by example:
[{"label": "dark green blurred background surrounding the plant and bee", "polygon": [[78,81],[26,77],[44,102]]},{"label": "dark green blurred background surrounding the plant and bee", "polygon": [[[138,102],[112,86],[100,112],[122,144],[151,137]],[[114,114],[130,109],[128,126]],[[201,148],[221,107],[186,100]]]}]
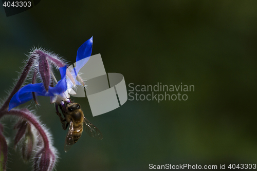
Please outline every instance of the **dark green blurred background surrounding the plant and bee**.
[{"label": "dark green blurred background surrounding the plant and bee", "polygon": [[[187,101],[127,101],[97,117],[86,98],[74,98],[104,138],[83,132],[68,153],[67,131],[49,98],[40,97],[38,107],[26,103],[52,133],[60,153],[57,170],[256,163],[256,6],[256,1],[44,0],[10,17],[0,7],[0,97],[7,97],[33,46],[71,64],[80,45],[94,36],[92,54],[101,53],[106,72],[122,73],[126,85],[182,83],[195,91],[187,93]],[[4,120],[8,168],[31,170],[13,149],[12,121]]]}]

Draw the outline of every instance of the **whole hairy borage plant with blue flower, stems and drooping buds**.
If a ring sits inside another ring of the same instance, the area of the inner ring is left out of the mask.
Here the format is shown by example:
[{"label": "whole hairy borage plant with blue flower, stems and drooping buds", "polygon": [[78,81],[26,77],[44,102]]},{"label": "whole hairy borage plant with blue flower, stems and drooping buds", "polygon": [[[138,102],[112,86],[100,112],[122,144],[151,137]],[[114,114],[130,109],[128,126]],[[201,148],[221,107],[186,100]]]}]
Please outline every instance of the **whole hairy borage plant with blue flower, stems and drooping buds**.
[{"label": "whole hairy borage plant with blue flower, stems and drooping buds", "polygon": [[[70,103],[69,93],[75,93],[72,88],[76,85],[84,86],[84,82],[79,77],[78,72],[88,61],[92,45],[93,37],[78,49],[76,58],[77,72],[70,67],[67,69],[66,63],[58,55],[43,49],[33,49],[19,80],[0,108],[0,119],[4,116],[16,116],[19,118],[14,126],[14,129],[17,129],[14,148],[21,146],[24,161],[33,160],[34,171],[51,171],[58,158],[57,150],[52,146],[51,136],[47,129],[30,110],[27,108],[13,108],[32,99],[38,104],[36,96],[47,96],[50,97],[51,103],[56,103],[56,110],[59,113],[58,105],[64,102]],[[82,61],[82,59],[84,60],[80,63],[79,61]],[[61,74],[60,81],[57,81],[56,77],[54,77],[53,67],[59,69]],[[32,73],[31,84],[23,86],[30,71]],[[4,127],[0,124],[0,170],[6,170],[8,153],[3,130]]]}]

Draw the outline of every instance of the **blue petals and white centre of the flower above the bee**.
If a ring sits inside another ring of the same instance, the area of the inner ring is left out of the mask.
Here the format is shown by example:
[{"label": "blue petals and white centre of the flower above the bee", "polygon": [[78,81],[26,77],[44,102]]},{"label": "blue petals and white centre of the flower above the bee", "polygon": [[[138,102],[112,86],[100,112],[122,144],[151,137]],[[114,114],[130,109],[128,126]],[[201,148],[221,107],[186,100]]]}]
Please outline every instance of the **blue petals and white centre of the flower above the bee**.
[{"label": "blue petals and white centre of the flower above the bee", "polygon": [[[54,78],[53,74],[50,77],[46,77],[42,79],[43,83],[36,83],[36,84],[28,84],[24,87],[22,87],[19,91],[17,91],[14,96],[12,97],[10,103],[9,103],[9,110],[11,110],[13,107],[19,106],[21,104],[24,104],[31,99],[33,99],[33,93],[35,93],[35,96],[47,96],[51,98],[51,103],[57,102],[60,103],[62,100],[67,101],[69,98],[69,92],[72,87],[74,87],[74,84],[81,85],[77,80],[76,77],[78,77],[79,70],[86,64],[86,62],[89,60],[89,57],[92,52],[92,46],[93,46],[93,37],[91,37],[89,40],[87,40],[84,44],[82,44],[78,51],[77,51],[77,58],[76,58],[76,72],[72,74],[69,70],[67,70],[67,66],[60,67],[60,74],[61,74],[61,80],[56,84],[55,87],[49,86],[49,82],[51,80],[56,80]],[[46,58],[46,54],[43,53],[44,59]],[[48,60],[50,59],[50,63],[54,64],[54,58],[51,58],[50,53],[47,53],[49,55]],[[39,56],[39,61],[42,61],[41,56]],[[49,65],[47,60],[46,62],[39,62],[42,66],[39,66],[39,68],[51,68],[49,66],[43,66],[43,65]],[[59,62],[60,63],[60,62]],[[59,64],[58,63],[58,64]],[[47,70],[45,69],[45,70]],[[41,70],[38,70],[41,75],[44,75],[44,72]],[[51,71],[47,71],[47,74],[51,73]],[[67,79],[66,79],[67,75]],[[74,81],[76,80],[76,82]]]}]

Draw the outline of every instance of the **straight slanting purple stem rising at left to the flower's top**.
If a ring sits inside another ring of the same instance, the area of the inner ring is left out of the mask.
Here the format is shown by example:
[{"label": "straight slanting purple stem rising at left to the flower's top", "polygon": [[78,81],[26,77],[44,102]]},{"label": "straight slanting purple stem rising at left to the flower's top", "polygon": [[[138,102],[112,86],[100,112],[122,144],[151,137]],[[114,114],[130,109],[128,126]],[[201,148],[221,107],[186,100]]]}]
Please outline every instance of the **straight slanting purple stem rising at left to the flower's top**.
[{"label": "straight slanting purple stem rising at left to the flower's top", "polygon": [[[31,55],[30,58],[29,58],[29,61],[27,62],[22,74],[21,74],[21,77],[20,79],[17,81],[15,87],[13,88],[12,92],[10,93],[9,97],[7,98],[7,100],[5,101],[4,105],[0,108],[0,111],[4,111],[4,110],[8,110],[8,105],[13,97],[13,95],[19,91],[19,89],[21,88],[21,86],[23,85],[24,81],[26,80],[27,78],[27,75],[28,75],[28,72],[33,64],[35,60],[35,56],[34,55]],[[0,115],[0,118],[2,118],[2,116]]]}]

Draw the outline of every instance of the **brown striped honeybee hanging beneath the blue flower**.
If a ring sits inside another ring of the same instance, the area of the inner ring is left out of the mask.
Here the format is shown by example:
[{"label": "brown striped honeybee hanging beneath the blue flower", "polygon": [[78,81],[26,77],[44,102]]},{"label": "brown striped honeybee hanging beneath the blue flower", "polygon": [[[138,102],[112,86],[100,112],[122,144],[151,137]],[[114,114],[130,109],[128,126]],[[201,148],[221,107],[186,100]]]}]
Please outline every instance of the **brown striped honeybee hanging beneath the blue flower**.
[{"label": "brown striped honeybee hanging beneath the blue flower", "polygon": [[64,118],[62,118],[61,113],[58,111],[58,107],[56,113],[60,117],[63,129],[66,130],[69,125],[69,130],[65,138],[65,152],[67,152],[71,146],[75,144],[81,137],[83,131],[83,122],[85,123],[84,128],[90,137],[99,140],[103,139],[103,135],[100,130],[84,117],[83,111],[80,108],[80,104],[74,102],[63,102],[62,105],[59,104],[59,106]]}]

